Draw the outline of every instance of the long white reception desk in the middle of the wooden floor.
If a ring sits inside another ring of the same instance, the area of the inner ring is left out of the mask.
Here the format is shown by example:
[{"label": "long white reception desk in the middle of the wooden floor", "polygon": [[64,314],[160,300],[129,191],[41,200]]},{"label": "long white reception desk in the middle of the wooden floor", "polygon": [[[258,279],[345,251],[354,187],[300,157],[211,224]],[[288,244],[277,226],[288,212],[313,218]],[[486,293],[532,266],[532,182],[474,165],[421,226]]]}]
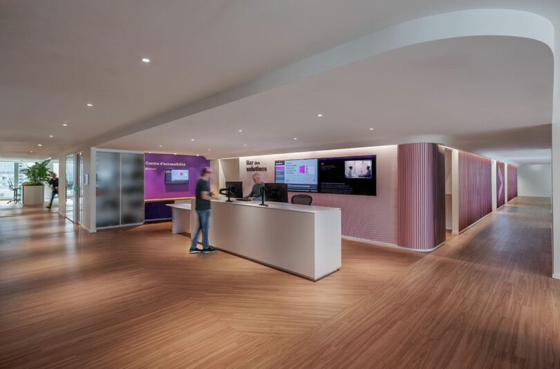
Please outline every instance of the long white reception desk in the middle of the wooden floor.
[{"label": "long white reception desk in the middle of the wooden floor", "polygon": [[[337,271],[342,262],[340,209],[267,205],[212,200],[210,246],[313,281]],[[197,222],[193,211],[193,231]]]}]

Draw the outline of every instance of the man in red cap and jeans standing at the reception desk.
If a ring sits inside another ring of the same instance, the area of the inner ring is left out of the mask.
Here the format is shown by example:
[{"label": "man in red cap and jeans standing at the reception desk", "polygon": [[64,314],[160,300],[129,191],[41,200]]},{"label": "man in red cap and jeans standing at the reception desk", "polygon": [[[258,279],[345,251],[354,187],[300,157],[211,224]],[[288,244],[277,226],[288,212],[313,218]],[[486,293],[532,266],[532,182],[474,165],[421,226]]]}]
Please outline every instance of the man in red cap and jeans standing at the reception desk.
[{"label": "man in red cap and jeans standing at the reception desk", "polygon": [[[210,222],[210,200],[216,199],[214,193],[210,192],[210,174],[212,170],[205,167],[200,169],[200,178],[196,182],[196,214],[198,215],[198,225],[196,226],[196,231],[191,234],[191,249],[190,254],[208,254],[210,252],[216,252],[215,249],[211,249],[208,245],[208,229]],[[203,233],[203,249],[198,249],[198,234],[200,231]]]}]

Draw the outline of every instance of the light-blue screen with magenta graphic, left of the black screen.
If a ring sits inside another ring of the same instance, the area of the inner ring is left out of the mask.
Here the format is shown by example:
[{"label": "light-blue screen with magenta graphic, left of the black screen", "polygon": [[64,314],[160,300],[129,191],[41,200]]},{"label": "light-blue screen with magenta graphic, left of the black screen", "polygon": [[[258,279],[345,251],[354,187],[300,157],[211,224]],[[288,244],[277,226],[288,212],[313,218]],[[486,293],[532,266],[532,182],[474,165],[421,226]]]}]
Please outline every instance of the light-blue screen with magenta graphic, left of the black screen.
[{"label": "light-blue screen with magenta graphic, left of the black screen", "polygon": [[274,182],[286,183],[288,191],[317,192],[317,174],[317,159],[274,162]]}]

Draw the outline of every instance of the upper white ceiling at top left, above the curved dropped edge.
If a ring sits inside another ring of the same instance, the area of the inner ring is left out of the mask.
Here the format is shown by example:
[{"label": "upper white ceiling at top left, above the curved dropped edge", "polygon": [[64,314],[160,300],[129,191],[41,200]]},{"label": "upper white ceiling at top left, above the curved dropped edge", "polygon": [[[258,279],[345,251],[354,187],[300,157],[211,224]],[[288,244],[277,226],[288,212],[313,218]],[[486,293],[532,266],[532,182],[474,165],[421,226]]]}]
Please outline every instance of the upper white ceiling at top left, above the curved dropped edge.
[{"label": "upper white ceiling at top left, above the curved dropped edge", "polygon": [[4,0],[0,157],[60,153],[392,24],[489,7],[560,14],[555,0]]}]

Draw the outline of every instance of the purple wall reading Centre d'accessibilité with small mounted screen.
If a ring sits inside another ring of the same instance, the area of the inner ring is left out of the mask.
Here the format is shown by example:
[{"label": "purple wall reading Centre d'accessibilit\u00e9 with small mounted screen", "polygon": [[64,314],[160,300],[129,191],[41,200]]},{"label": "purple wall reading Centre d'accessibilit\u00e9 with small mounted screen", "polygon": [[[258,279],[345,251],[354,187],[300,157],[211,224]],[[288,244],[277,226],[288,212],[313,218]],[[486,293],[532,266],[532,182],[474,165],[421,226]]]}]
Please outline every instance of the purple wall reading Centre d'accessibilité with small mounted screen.
[{"label": "purple wall reading Centre d'accessibilit\u00e9 with small mounted screen", "polygon": [[[185,163],[185,165],[165,163]],[[194,196],[200,168],[209,166],[209,160],[203,156],[144,153],[144,199]],[[189,169],[189,183],[165,185],[165,169]]]}]

